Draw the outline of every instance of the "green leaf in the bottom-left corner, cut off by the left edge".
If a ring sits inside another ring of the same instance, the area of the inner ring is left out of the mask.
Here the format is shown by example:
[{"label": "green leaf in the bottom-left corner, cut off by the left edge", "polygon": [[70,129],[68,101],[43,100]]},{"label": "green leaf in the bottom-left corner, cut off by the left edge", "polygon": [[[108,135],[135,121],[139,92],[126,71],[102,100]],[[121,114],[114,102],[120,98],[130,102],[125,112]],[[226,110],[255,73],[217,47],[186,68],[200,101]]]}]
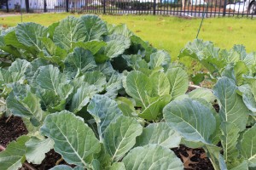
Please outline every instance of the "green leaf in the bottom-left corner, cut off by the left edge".
[{"label": "green leaf in the bottom-left corner, cut off by the left edge", "polygon": [[22,163],[26,161],[26,141],[28,136],[20,136],[16,141],[8,144],[6,150],[0,152],[1,170],[13,170],[22,167]]}]

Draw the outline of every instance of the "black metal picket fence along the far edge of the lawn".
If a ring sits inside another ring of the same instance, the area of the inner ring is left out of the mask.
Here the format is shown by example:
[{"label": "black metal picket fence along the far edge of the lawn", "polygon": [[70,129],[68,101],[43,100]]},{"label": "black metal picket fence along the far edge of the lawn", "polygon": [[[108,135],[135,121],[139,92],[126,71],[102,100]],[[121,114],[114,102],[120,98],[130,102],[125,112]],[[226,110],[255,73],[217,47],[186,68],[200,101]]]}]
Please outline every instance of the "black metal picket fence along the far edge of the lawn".
[{"label": "black metal picket fence along the far edge of the lawn", "polygon": [[9,12],[256,16],[256,0],[1,0]]}]

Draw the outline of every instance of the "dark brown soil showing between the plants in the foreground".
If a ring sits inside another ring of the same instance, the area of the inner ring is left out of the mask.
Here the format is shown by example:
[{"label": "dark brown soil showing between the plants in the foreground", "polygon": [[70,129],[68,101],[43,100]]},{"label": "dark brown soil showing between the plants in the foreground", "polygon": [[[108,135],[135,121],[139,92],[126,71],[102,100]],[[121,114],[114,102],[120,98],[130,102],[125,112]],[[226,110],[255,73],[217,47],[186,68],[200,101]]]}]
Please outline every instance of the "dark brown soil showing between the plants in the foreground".
[{"label": "dark brown soil showing between the plants in the foreground", "polygon": [[[9,121],[7,117],[0,118],[0,144],[6,147],[10,141],[17,139],[19,136],[26,134],[27,130],[20,117],[12,116]],[[203,149],[190,149],[183,144],[178,148],[172,149],[177,157],[179,157],[184,164],[186,170],[213,170],[211,161],[207,158]],[[55,167],[56,161],[61,159],[61,155],[54,150],[50,150],[46,154],[46,158],[40,165],[32,165],[37,170],[48,170]],[[67,164],[61,161],[60,164]],[[71,165],[72,167],[75,167]],[[20,167],[20,170],[29,170],[27,167]]]}]

